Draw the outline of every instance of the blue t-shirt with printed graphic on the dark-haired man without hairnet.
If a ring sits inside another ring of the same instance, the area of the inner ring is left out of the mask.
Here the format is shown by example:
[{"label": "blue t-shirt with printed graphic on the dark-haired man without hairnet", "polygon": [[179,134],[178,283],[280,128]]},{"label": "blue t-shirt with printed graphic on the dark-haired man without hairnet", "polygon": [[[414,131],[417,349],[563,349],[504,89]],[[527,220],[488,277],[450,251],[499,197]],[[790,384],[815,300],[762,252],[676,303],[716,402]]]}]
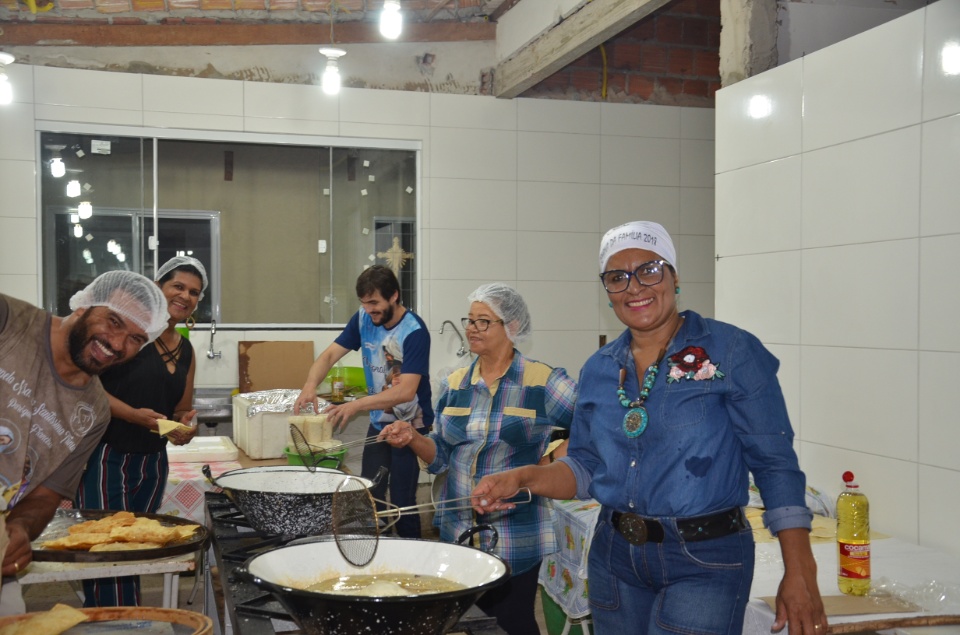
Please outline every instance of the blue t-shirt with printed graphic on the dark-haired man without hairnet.
[{"label": "blue t-shirt with printed graphic on the dark-haired man without hairnet", "polygon": [[[367,379],[367,393],[374,395],[393,385],[396,376],[420,375],[417,386],[417,404],[422,412],[423,427],[427,430],[433,425],[433,405],[430,390],[430,333],[427,325],[413,311],[407,309],[403,317],[387,329],[377,326],[363,309],[357,311],[343,332],[336,339],[337,344],[352,351],[360,350],[363,356],[363,373]],[[397,417],[394,411],[407,404],[398,404],[390,412],[370,411],[370,423],[380,430]],[[401,417],[408,419],[406,415]],[[399,412],[397,414],[400,414]],[[419,423],[419,416],[417,417]]]}]

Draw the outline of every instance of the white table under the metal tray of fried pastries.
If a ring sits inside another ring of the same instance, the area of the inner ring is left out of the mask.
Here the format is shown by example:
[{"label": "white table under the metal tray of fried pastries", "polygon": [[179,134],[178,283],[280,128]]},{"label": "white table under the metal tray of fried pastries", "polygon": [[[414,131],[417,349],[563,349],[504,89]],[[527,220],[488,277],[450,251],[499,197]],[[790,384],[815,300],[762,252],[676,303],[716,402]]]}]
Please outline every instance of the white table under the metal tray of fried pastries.
[{"label": "white table under the metal tray of fried pastries", "polygon": [[[44,582],[75,582],[127,575],[163,575],[163,608],[175,609],[179,604],[180,574],[196,571],[199,553],[188,553],[159,560],[129,562],[31,562],[18,576],[22,585]],[[206,598],[204,598],[206,599]]]}]

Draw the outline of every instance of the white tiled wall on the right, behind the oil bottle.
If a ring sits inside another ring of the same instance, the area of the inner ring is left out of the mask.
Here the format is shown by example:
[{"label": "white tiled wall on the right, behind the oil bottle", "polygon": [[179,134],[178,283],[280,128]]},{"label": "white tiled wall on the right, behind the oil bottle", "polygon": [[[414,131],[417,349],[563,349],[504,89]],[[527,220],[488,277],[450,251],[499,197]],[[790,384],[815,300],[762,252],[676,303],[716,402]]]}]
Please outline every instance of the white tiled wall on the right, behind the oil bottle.
[{"label": "white tiled wall on the right, behind the oil bottle", "polygon": [[[877,530],[955,555],[960,75],[940,52],[958,25],[960,3],[932,3],[721,90],[716,112],[718,250],[761,254],[720,260],[717,315],[778,355],[799,332],[784,391],[808,482],[836,495],[853,470]],[[789,158],[763,162],[782,144],[744,117],[755,93],[803,104],[778,122],[802,131]]]}]

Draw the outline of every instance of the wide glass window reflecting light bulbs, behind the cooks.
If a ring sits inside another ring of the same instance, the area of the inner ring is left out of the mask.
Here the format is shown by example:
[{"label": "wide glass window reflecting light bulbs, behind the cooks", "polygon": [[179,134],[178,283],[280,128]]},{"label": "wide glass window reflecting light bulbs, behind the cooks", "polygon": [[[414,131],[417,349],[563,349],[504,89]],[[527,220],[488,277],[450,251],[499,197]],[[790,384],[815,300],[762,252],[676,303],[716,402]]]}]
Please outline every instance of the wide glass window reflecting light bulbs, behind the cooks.
[{"label": "wide glass window reflecting light bulbs, behind the cooks", "polygon": [[343,324],[375,263],[416,307],[415,150],[42,133],[41,161],[45,303],[58,314],[111,267],[152,276],[154,235],[158,262],[188,253],[207,266],[201,322]]}]

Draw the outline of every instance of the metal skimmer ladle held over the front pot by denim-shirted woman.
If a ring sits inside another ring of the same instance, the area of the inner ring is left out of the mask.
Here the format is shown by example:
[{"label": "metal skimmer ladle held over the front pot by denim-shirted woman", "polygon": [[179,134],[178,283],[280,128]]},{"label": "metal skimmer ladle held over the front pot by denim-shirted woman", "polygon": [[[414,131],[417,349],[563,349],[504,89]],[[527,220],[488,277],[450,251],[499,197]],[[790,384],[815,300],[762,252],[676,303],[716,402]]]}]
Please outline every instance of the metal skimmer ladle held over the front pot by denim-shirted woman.
[{"label": "metal skimmer ladle held over the front pot by denim-shirted woman", "polygon": [[[508,502],[522,504],[529,503],[533,500],[533,495],[528,488],[520,488],[517,494],[521,492],[526,492],[526,500]],[[517,494],[514,494],[514,496]],[[446,507],[447,503],[457,503],[471,500],[472,498],[472,496],[448,498],[446,500],[436,501],[435,503],[408,505],[407,507],[397,507],[396,505],[379,501],[384,505],[388,505],[391,509],[378,512],[373,496],[370,495],[367,486],[360,480],[348,476],[340,481],[336,491],[333,493],[333,536],[337,541],[337,549],[340,550],[340,554],[344,559],[353,566],[366,566],[373,560],[373,557],[377,555],[377,546],[380,543],[380,518],[384,516],[395,517],[383,526],[383,529],[387,529],[400,520],[400,517],[404,514],[410,512],[419,513],[422,509],[437,509],[438,507],[442,507],[447,511],[472,509],[471,505]]]}]

